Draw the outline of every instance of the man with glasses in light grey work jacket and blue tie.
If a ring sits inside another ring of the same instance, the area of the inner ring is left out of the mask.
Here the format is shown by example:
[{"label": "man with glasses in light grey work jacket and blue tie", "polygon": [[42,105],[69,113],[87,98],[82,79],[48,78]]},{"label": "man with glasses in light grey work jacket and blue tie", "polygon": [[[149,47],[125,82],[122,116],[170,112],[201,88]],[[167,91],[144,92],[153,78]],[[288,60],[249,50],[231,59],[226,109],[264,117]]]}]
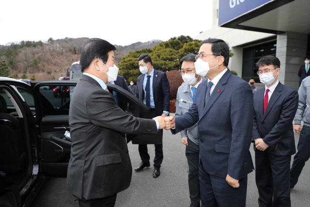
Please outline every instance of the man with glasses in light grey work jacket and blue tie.
[{"label": "man with glasses in light grey work jacket and blue tie", "polygon": [[[180,61],[181,70],[179,71],[184,84],[182,84],[176,95],[175,117],[186,113],[193,104],[196,96],[196,90],[204,77],[196,74],[194,54],[188,54]],[[185,155],[188,163],[188,187],[190,207],[200,207],[200,187],[198,178],[199,166],[199,135],[198,127],[195,124],[192,127],[181,131],[181,142],[186,145]]]}]

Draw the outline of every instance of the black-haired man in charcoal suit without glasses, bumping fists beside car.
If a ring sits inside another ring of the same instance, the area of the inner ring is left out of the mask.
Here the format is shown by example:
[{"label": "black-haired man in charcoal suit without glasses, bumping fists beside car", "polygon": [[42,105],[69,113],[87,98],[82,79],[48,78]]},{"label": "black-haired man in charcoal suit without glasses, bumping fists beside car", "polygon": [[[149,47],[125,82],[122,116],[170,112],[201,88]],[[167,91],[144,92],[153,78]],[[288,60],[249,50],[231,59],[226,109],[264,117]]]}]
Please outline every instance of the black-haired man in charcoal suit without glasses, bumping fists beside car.
[{"label": "black-haired man in charcoal suit without glasses, bumping fists beside car", "polygon": [[69,110],[72,147],[67,174],[67,190],[80,207],[114,207],[116,193],[129,187],[132,175],[125,134],[155,134],[164,127],[161,116],[155,121],[140,119],[116,105],[106,85],[117,77],[115,49],[94,38],[81,52],[83,75]]}]

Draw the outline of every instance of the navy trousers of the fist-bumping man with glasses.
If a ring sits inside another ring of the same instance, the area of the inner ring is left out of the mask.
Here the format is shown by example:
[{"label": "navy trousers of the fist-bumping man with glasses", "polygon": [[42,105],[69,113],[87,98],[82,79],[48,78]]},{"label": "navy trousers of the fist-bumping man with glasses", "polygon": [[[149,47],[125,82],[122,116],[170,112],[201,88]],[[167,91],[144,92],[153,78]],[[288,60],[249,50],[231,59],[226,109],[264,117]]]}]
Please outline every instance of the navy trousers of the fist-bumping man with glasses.
[{"label": "navy trousers of the fist-bumping man with glasses", "polygon": [[199,185],[202,207],[245,207],[248,176],[239,180],[239,188],[230,186],[226,178],[210,175],[199,166]]}]

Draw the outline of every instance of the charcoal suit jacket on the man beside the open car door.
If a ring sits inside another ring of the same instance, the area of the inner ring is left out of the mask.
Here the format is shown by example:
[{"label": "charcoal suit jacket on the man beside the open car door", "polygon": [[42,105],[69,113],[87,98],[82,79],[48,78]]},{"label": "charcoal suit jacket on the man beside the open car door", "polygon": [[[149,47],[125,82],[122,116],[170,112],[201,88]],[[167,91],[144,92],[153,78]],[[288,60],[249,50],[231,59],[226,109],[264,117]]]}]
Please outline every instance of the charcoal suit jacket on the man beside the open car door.
[{"label": "charcoal suit jacket on the man beside the open car door", "polygon": [[107,197],[127,189],[132,167],[125,133],[157,133],[154,120],[126,114],[109,92],[86,75],[72,94],[69,125],[67,190],[79,199]]}]

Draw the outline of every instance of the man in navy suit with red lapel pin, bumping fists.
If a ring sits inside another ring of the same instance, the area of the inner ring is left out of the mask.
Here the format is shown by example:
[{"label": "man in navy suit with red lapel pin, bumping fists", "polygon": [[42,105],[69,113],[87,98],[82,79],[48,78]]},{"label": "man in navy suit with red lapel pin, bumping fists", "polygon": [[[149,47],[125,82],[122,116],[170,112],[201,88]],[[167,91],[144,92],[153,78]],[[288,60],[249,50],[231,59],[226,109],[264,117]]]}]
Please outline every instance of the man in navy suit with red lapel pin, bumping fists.
[{"label": "man in navy suit with red lapel pin, bumping fists", "polygon": [[[195,69],[207,77],[194,103],[180,117],[165,117],[176,134],[198,123],[199,185],[202,207],[245,207],[253,127],[253,93],[249,84],[227,68],[229,46],[221,39],[202,41]],[[175,126],[175,128],[173,128]]]}]

